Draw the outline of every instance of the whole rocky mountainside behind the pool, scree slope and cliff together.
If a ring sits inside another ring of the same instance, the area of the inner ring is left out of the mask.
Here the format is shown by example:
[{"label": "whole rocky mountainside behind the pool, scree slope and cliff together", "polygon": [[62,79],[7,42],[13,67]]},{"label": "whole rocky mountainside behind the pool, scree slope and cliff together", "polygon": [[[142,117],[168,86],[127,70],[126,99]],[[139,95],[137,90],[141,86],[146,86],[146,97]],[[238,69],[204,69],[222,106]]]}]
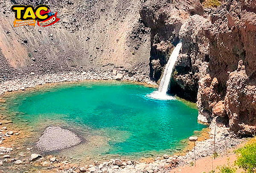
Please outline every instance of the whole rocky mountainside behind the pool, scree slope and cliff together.
[{"label": "whole rocky mountainside behind the pool, scree slope and cliff together", "polygon": [[21,2],[4,0],[0,79],[115,68],[149,74],[157,82],[181,41],[169,92],[197,102],[200,121],[251,135],[256,132],[256,0],[222,0],[217,8],[205,8],[203,1],[23,0],[47,4],[61,21],[13,28],[10,8]]}]

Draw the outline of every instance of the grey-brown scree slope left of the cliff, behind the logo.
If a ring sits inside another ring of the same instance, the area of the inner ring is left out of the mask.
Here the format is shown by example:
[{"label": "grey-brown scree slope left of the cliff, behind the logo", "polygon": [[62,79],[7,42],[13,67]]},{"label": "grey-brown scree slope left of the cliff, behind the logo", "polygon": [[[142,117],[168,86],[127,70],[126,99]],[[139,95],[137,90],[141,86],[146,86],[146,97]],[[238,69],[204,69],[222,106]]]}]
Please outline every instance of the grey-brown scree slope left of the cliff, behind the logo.
[{"label": "grey-brown scree slope left of the cliff, behind the logo", "polygon": [[[61,19],[50,27],[13,28],[14,4],[45,4]],[[15,1],[0,3],[0,78],[70,70],[148,71],[149,31],[137,0]]]}]

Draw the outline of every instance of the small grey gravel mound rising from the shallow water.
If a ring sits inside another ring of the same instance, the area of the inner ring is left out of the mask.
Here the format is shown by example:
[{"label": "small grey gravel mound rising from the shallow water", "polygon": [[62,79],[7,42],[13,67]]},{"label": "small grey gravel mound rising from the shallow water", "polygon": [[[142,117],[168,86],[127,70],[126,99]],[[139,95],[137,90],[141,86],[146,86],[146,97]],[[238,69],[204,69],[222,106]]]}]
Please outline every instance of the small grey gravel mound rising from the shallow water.
[{"label": "small grey gravel mound rising from the shallow water", "polygon": [[35,147],[44,152],[62,150],[78,145],[81,139],[72,131],[51,126],[44,130]]}]

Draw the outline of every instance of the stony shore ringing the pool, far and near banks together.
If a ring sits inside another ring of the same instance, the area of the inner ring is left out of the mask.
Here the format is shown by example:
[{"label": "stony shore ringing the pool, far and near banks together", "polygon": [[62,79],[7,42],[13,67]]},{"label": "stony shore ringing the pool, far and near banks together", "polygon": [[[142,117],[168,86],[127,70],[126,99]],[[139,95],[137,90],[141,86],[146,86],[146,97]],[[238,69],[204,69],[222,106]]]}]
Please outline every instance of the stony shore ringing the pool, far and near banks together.
[{"label": "stony shore ringing the pool, far and near banks together", "polygon": [[[37,85],[43,85],[47,83],[72,82],[90,79],[133,81],[143,82],[152,86],[156,85],[144,74],[130,77],[129,74],[123,71],[105,71],[101,74],[96,71],[69,72],[61,74],[47,74],[41,77],[36,76],[35,74],[31,74],[30,77],[27,78],[1,82],[0,94],[12,91],[26,90],[27,88],[33,88]],[[19,133],[16,133],[15,130],[9,130],[12,129],[12,123],[8,124],[9,127],[5,127],[4,125],[5,124],[2,123],[0,126],[0,137],[3,145],[5,144],[6,138],[12,138],[13,136],[19,135]],[[185,156],[182,156],[182,154],[180,154],[180,156],[178,154],[176,156],[168,156],[165,154],[163,157],[157,157],[148,162],[139,162],[120,158],[111,159],[105,162],[94,161],[94,164],[89,165],[77,165],[73,164],[72,159],[70,160],[70,158],[58,156],[41,156],[40,154],[32,153],[31,148],[27,148],[26,152],[19,153],[16,151],[18,147],[15,145],[4,145],[5,147],[2,145],[0,147],[0,165],[4,169],[9,169],[8,167],[5,167],[5,165],[8,166],[14,164],[14,167],[12,168],[14,170],[26,169],[26,167],[42,166],[43,169],[58,173],[164,173],[168,170],[171,170],[173,167],[182,166],[184,164],[191,164],[194,162],[195,153],[196,159],[212,156],[214,147],[214,134],[216,152],[218,155],[228,154],[228,150],[230,148],[236,147],[245,140],[236,138],[233,133],[228,131],[228,128],[216,126],[216,133],[214,133],[214,130],[215,126],[211,125],[211,130],[209,132],[210,138],[205,139],[204,141],[195,142],[195,150],[186,150],[187,153]],[[5,172],[5,170],[2,171]]]}]

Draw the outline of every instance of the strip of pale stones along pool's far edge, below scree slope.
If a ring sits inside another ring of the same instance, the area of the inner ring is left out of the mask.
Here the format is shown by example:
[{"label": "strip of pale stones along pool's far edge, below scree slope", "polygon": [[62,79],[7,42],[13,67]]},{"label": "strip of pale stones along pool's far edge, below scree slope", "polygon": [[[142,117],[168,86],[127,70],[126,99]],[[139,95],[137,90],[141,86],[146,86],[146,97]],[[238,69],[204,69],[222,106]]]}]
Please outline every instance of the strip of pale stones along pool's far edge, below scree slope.
[{"label": "strip of pale stones along pool's far edge, below scree slope", "polygon": [[83,80],[120,80],[129,82],[141,82],[146,85],[157,86],[151,81],[146,74],[131,75],[126,71],[72,71],[61,72],[56,74],[45,74],[38,76],[35,73],[30,73],[28,77],[20,79],[0,81],[0,95],[12,91],[24,91],[26,88],[33,88],[38,85],[58,82],[78,82]]}]

